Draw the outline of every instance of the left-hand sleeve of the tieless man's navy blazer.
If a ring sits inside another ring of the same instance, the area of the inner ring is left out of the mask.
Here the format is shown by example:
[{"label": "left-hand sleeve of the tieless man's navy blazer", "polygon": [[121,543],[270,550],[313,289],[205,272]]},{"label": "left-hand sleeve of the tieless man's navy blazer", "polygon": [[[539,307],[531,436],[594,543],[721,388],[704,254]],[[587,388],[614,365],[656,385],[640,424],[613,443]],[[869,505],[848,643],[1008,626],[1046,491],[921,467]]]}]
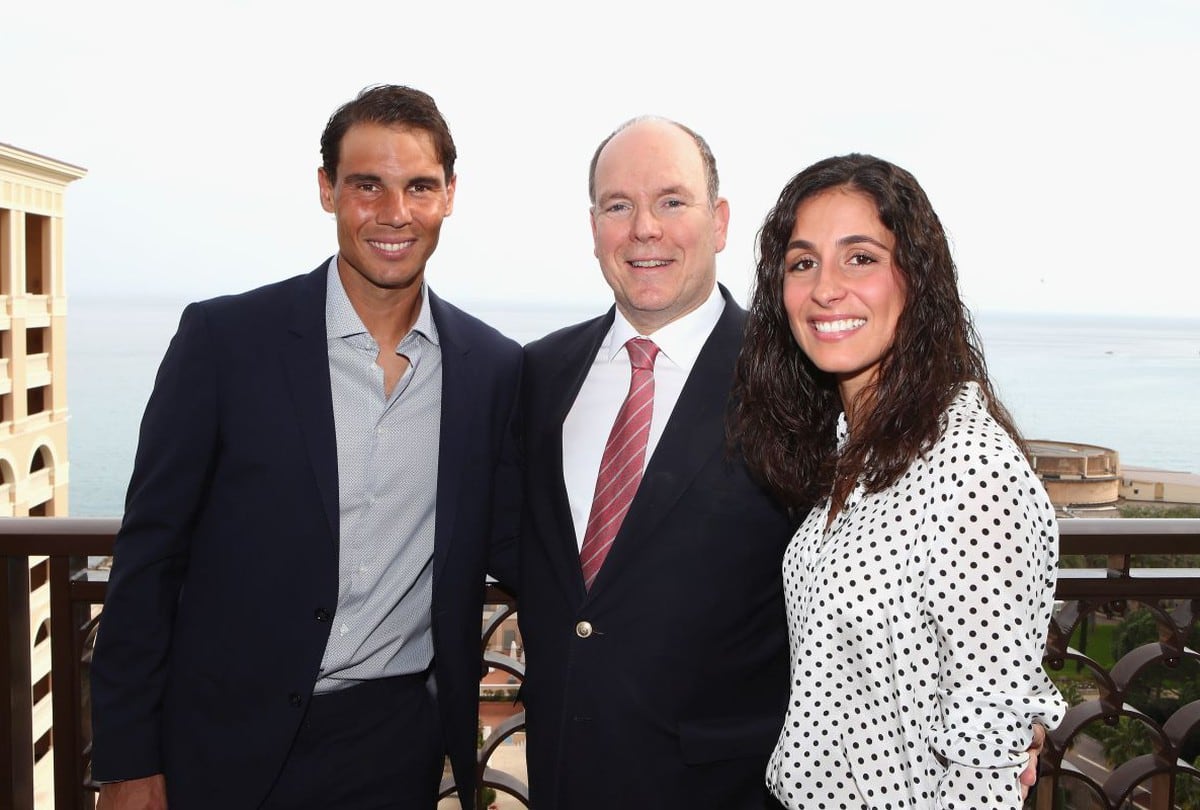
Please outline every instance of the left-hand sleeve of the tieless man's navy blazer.
[{"label": "left-hand sleeve of the tieless man's navy blazer", "polygon": [[192,528],[218,451],[205,310],[188,306],[142,419],[91,666],[92,775],[162,772],[160,715]]}]

